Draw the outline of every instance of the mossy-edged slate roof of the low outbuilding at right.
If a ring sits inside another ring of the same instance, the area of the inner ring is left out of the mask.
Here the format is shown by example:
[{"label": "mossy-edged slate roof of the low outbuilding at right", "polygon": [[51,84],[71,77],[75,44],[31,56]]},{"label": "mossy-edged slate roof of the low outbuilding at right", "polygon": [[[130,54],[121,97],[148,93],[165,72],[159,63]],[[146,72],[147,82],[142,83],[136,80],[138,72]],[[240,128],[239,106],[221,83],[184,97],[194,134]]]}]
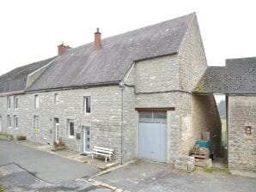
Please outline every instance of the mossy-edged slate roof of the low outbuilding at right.
[{"label": "mossy-edged slate roof of the low outbuilding at right", "polygon": [[194,93],[256,93],[256,57],[227,59],[224,67],[208,67]]}]

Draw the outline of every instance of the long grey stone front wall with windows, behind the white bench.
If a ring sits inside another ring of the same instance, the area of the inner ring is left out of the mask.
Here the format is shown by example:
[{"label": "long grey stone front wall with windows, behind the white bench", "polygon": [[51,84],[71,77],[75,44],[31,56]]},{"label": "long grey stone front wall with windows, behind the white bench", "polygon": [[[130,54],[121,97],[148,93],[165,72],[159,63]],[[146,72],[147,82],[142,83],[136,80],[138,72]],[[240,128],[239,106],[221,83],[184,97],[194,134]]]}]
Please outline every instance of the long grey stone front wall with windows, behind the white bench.
[{"label": "long grey stone front wall with windows, behind the white bench", "polygon": [[[130,90],[131,89],[131,90]],[[133,158],[134,145],[134,118],[126,114],[134,114],[132,96],[133,88],[126,88],[125,92],[125,159]],[[54,104],[54,93],[58,93],[58,104]],[[40,97],[39,109],[34,109],[34,95]],[[82,111],[83,96],[91,96],[91,113]],[[116,152],[115,158],[120,157],[120,126],[121,126],[121,90],[119,86],[92,87],[88,89],[72,89],[56,92],[27,93],[18,95],[19,109],[12,106],[7,110],[7,98],[0,97],[2,116],[2,127],[10,134],[27,135],[27,139],[38,141],[43,144],[52,143],[54,118],[59,118],[60,137],[66,145],[77,152],[82,152],[82,126],[91,127],[91,147],[101,146],[113,148]],[[12,123],[14,115],[19,118],[19,128],[7,128],[7,115],[11,116]],[[40,117],[40,128],[34,130],[34,116]],[[75,138],[68,138],[68,120],[75,123]],[[130,130],[131,129],[131,130]],[[76,139],[76,133],[81,134],[81,139]]]}]

